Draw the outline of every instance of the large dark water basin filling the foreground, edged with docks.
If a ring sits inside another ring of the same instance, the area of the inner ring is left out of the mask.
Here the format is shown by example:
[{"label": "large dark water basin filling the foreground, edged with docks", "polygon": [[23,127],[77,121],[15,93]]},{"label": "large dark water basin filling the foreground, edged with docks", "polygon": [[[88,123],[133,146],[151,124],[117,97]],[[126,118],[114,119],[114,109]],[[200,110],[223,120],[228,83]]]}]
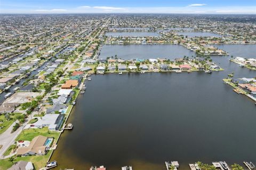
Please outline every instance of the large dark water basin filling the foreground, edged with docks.
[{"label": "large dark water basin filling the foreground, edged with docks", "polygon": [[[240,46],[243,48],[243,46]],[[86,82],[51,160],[57,169],[165,169],[164,161],[256,163],[256,108],[222,82],[256,71],[213,56],[225,71],[105,74]]]}]

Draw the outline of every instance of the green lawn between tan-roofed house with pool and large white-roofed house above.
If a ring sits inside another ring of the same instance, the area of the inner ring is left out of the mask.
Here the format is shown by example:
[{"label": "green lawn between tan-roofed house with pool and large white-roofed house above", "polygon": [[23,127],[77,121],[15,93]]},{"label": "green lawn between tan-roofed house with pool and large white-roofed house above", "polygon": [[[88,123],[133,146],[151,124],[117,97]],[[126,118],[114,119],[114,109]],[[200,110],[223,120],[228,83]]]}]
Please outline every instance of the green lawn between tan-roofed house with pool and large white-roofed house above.
[{"label": "green lawn between tan-roofed house with pool and large white-roofed house above", "polygon": [[[25,135],[24,135],[25,134]],[[19,136],[15,139],[15,141],[31,141],[34,137],[38,135],[46,136],[46,137],[54,137],[55,139],[58,139],[59,132],[49,131],[48,127],[44,127],[42,129],[39,128],[30,128],[25,129],[24,134],[21,132]]]}]

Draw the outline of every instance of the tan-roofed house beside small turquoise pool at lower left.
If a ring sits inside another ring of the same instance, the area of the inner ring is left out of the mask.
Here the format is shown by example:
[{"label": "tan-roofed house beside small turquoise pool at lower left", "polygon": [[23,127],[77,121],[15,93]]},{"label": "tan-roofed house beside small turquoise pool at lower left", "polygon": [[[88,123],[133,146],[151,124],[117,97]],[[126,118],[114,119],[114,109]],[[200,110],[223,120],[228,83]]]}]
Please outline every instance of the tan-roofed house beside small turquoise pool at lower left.
[{"label": "tan-roofed house beside small turquoise pool at lower left", "polygon": [[45,142],[48,137],[39,135],[29,143],[28,147],[21,147],[17,150],[18,156],[29,156],[29,155],[45,155],[46,145]]}]

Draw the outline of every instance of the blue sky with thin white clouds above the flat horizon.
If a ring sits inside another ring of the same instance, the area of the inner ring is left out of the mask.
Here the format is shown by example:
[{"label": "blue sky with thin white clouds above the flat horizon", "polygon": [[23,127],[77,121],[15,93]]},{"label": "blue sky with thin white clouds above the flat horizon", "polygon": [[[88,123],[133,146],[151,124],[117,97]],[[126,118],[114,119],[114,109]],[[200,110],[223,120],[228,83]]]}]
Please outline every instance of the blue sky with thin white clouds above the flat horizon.
[{"label": "blue sky with thin white clouds above the flat horizon", "polygon": [[256,14],[256,0],[0,0],[0,13]]}]

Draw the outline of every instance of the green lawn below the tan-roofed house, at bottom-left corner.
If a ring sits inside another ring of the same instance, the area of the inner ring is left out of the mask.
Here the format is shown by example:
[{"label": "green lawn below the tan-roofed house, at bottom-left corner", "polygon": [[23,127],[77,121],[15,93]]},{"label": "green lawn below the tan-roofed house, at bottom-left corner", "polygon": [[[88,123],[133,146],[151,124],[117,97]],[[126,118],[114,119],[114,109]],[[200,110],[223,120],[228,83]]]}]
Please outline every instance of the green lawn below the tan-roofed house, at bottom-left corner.
[{"label": "green lawn below the tan-roofed house, at bottom-left corner", "polygon": [[[15,158],[15,160],[13,161],[13,163],[17,163],[20,160],[23,161],[31,161],[34,166],[35,169],[40,169],[42,167],[45,167],[45,164],[47,163],[51,153],[53,152],[53,150],[50,150],[46,155],[44,156],[26,156],[26,157],[17,157]],[[0,160],[0,169],[4,170],[4,169],[8,169],[12,166],[13,164],[9,161],[9,158],[6,159],[2,159]]]}]

